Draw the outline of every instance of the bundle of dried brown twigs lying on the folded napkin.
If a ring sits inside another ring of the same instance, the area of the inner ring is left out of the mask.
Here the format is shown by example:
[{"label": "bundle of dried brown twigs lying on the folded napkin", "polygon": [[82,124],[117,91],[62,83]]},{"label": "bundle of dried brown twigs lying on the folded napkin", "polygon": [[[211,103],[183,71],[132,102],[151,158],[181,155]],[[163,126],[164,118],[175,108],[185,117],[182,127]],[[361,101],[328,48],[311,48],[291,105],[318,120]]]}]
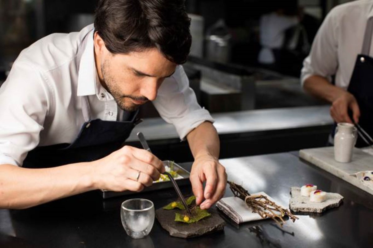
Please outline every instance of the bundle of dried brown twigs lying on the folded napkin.
[{"label": "bundle of dried brown twigs lying on the folded napkin", "polygon": [[288,209],[283,209],[276,203],[269,200],[266,196],[261,194],[251,195],[244,187],[228,181],[229,188],[232,190],[236,197],[241,198],[249,206],[253,213],[257,213],[261,218],[271,218],[275,220],[280,226],[282,226],[285,221],[283,217],[285,215],[294,222],[298,217],[294,216]]}]

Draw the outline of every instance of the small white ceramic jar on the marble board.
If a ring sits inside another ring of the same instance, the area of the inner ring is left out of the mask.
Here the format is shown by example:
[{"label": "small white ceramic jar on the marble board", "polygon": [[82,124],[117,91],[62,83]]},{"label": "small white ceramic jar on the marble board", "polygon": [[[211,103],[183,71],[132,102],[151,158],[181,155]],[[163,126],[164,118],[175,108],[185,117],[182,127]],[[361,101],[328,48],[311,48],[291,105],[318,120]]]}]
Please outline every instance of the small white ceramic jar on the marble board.
[{"label": "small white ceramic jar on the marble board", "polygon": [[351,123],[338,123],[334,135],[334,159],[348,163],[352,160],[352,151],[357,140],[357,129]]}]

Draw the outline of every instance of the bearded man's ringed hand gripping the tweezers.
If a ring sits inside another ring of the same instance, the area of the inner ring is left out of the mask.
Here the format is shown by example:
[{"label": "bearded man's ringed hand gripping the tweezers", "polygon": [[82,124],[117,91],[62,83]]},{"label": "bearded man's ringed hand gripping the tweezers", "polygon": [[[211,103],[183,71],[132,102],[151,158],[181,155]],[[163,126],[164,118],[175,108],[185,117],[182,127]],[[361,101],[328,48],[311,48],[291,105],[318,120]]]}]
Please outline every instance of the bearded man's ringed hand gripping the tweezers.
[{"label": "bearded man's ringed hand gripping the tweezers", "polygon": [[139,192],[151,186],[164,172],[164,165],[156,156],[132,146],[123,146],[92,163],[94,187],[111,191]]}]

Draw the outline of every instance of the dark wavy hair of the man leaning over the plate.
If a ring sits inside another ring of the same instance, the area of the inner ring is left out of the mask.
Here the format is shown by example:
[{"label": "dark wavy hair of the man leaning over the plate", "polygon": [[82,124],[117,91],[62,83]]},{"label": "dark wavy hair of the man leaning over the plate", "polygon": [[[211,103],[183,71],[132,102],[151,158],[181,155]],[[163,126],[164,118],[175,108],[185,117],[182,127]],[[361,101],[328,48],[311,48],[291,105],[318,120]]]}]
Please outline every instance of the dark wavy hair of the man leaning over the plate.
[{"label": "dark wavy hair of the man leaning over the plate", "polygon": [[113,54],[157,48],[183,64],[192,42],[184,0],[99,0],[94,26]]}]

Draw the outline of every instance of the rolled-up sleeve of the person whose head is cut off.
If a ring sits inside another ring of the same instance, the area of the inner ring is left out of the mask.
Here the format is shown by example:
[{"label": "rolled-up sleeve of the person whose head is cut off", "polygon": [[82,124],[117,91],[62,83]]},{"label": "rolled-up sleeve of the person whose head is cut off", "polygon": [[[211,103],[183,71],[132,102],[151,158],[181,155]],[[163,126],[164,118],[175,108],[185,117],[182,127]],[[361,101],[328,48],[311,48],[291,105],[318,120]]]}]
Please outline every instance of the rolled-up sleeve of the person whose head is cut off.
[{"label": "rolled-up sleeve of the person whose head is cut off", "polygon": [[335,25],[335,9],[329,12],[317,31],[310,54],[303,61],[301,84],[312,75],[319,75],[331,81],[338,67],[338,44]]}]

